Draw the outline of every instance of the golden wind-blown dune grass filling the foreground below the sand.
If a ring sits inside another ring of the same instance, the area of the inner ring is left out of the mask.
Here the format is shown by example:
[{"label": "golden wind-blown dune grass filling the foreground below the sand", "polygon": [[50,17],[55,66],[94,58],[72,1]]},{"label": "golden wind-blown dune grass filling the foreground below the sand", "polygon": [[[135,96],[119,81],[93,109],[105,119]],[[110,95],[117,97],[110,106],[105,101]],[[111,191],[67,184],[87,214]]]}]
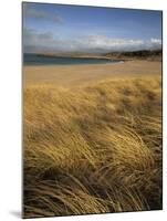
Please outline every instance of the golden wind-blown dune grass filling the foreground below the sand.
[{"label": "golden wind-blown dune grass filling the foreground below the sand", "polygon": [[161,78],[24,88],[23,217],[161,209]]}]

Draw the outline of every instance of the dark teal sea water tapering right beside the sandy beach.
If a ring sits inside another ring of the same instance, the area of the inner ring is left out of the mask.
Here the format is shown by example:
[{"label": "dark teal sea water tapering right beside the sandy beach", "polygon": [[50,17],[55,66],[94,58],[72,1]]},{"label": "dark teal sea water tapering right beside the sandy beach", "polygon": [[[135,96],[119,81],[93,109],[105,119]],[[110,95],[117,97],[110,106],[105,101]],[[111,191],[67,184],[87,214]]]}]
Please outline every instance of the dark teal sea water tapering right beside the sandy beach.
[{"label": "dark teal sea water tapering right beside the sandy beach", "polygon": [[24,65],[69,65],[69,64],[106,64],[118,63],[121,61],[107,59],[85,59],[85,57],[63,57],[63,56],[48,56],[38,54],[23,54]]}]

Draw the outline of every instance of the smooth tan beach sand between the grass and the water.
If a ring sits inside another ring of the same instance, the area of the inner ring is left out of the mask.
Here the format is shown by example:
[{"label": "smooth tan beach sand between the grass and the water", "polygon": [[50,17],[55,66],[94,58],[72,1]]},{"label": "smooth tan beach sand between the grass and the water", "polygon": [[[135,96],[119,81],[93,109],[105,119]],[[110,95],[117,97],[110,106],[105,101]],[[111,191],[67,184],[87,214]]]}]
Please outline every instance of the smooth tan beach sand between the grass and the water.
[{"label": "smooth tan beach sand between the grass and the water", "polygon": [[24,87],[34,84],[80,86],[106,78],[155,76],[161,74],[161,62],[126,61],[115,64],[41,65],[23,67]]}]

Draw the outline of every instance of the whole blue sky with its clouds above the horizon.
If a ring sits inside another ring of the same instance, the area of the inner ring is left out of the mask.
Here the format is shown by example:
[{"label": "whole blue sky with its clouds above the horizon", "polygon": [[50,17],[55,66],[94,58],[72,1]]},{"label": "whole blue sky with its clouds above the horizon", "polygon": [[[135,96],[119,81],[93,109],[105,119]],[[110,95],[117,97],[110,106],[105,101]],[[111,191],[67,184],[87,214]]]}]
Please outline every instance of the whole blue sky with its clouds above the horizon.
[{"label": "whole blue sky with its clouds above the horizon", "polygon": [[160,11],[23,2],[24,53],[160,48]]}]

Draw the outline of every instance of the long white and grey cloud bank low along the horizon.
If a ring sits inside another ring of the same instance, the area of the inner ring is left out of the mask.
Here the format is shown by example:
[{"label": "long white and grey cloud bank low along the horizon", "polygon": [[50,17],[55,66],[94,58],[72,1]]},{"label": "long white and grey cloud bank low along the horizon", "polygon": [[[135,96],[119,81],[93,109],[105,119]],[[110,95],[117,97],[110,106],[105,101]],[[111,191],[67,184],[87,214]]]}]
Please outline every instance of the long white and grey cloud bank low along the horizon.
[{"label": "long white and grey cloud bank low along the horizon", "polygon": [[105,35],[87,35],[82,38],[61,38],[52,33],[39,33],[34,30],[23,31],[24,52],[33,51],[61,51],[61,52],[112,52],[112,51],[137,51],[156,50],[161,48],[160,39],[133,40],[112,39]]}]

